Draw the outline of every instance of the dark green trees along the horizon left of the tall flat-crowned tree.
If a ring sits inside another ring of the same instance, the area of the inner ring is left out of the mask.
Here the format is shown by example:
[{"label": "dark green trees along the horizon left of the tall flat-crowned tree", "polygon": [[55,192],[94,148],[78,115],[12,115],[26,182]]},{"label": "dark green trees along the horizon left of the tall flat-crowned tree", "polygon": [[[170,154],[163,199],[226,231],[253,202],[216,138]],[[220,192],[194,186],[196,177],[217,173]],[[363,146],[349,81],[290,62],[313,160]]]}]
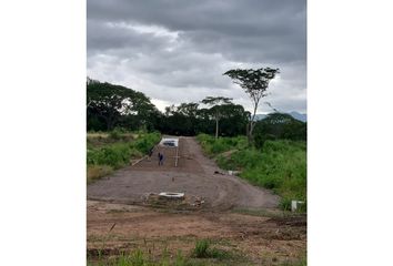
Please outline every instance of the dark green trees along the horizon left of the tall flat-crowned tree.
[{"label": "dark green trees along the horizon left of the tall flat-crowned tree", "polygon": [[170,135],[213,134],[220,120],[219,134],[234,136],[245,134],[249,116],[249,112],[239,104],[206,109],[200,108],[198,102],[167,106],[162,113],[141,92],[90,79],[87,82],[88,131],[112,131],[120,126]]}]

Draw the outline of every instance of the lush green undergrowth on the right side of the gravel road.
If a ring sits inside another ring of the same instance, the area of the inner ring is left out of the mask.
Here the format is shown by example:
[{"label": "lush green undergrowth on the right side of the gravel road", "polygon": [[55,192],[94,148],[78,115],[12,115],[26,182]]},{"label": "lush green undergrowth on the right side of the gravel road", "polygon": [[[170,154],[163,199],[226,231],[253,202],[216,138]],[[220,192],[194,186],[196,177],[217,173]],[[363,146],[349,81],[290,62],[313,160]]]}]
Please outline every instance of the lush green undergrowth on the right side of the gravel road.
[{"label": "lush green undergrowth on the right side of the gravel road", "polygon": [[204,152],[220,167],[240,171],[240,177],[272,190],[289,209],[291,200],[306,201],[306,143],[304,141],[265,141],[262,150],[246,145],[245,136],[214,140],[198,135]]}]

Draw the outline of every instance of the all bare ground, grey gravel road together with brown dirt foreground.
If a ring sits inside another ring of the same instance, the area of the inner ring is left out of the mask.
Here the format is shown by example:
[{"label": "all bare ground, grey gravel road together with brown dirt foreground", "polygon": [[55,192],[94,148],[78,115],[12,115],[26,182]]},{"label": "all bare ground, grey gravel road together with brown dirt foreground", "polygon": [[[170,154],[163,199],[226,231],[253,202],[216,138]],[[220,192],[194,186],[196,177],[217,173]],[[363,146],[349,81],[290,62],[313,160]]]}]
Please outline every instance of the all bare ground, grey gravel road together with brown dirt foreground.
[{"label": "all bare ground, grey gravel road together with brown dirt foreground", "polygon": [[[162,166],[158,152],[165,156]],[[190,254],[196,239],[211,239],[246,265],[304,256],[305,215],[283,215],[276,195],[225,174],[193,137],[180,139],[178,155],[175,167],[175,149],[157,146],[150,160],[88,186],[88,256],[134,248]],[[185,200],[162,201],[160,192],[184,192]]]}]

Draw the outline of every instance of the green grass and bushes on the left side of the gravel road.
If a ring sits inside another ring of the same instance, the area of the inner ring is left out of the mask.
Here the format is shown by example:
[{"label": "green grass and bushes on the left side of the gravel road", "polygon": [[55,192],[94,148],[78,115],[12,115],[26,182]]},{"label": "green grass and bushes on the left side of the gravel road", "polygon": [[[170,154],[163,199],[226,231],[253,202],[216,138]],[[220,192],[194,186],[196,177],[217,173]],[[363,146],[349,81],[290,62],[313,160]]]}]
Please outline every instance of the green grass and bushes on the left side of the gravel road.
[{"label": "green grass and bushes on the left side of the gravel road", "polygon": [[109,133],[88,133],[88,183],[111,174],[132,160],[143,157],[160,137],[161,134],[157,132],[127,132],[119,129]]}]

